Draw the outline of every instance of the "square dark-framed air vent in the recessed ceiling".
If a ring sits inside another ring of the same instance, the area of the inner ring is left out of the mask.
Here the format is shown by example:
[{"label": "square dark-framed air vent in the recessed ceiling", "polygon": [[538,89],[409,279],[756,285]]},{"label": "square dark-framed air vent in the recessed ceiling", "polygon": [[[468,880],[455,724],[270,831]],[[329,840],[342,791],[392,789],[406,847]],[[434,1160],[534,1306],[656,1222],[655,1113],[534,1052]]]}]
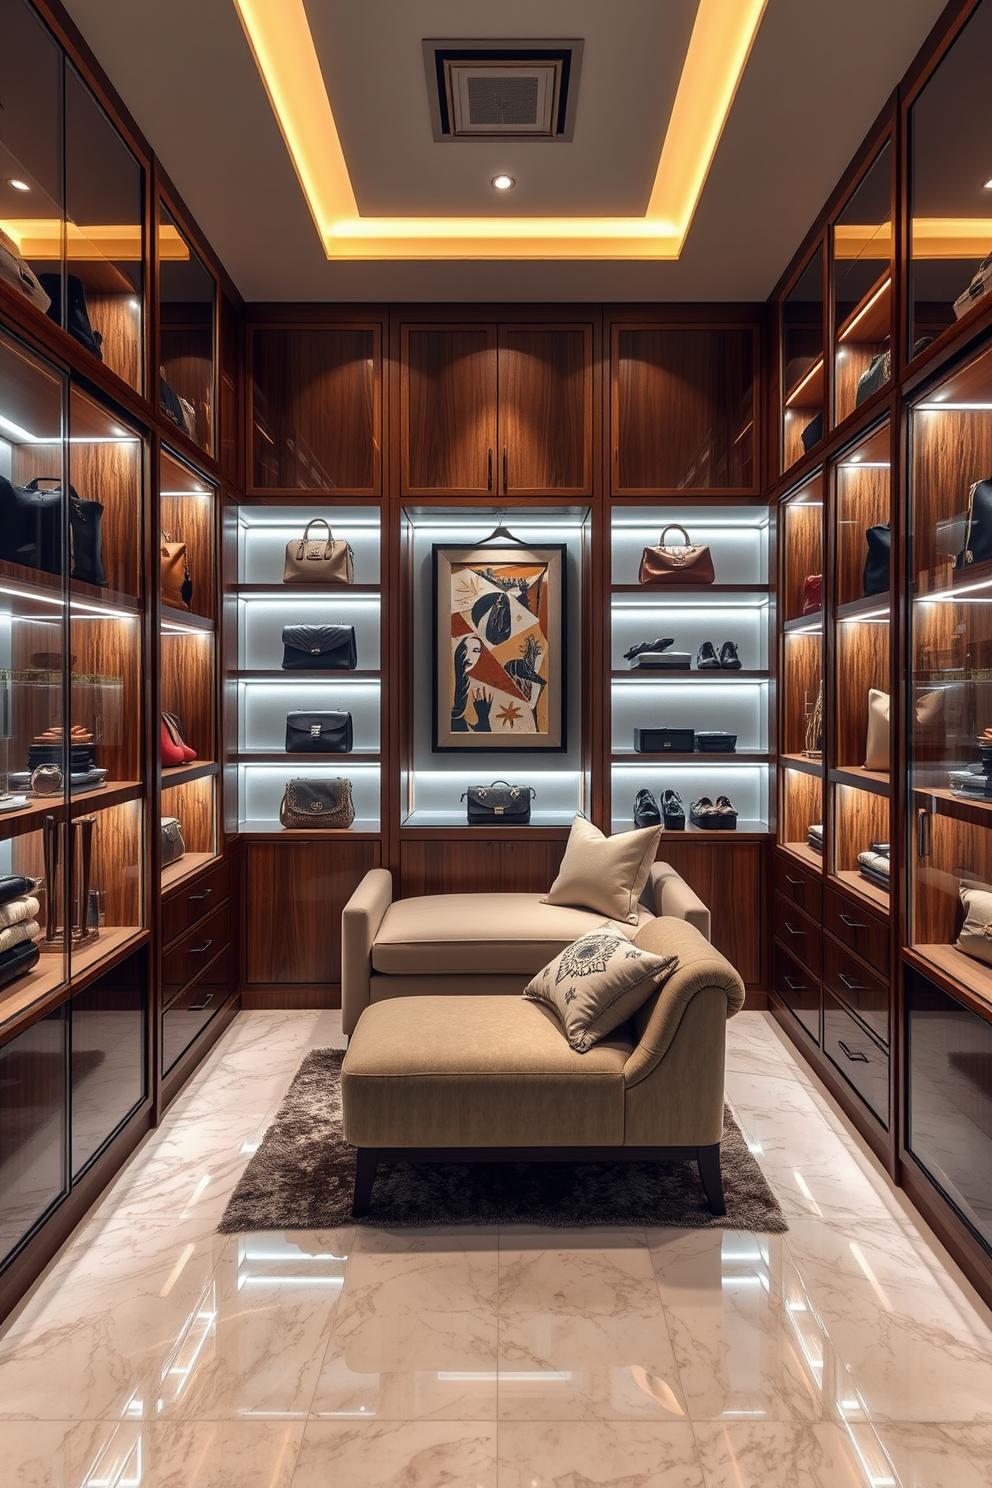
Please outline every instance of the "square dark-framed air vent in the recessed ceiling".
[{"label": "square dark-framed air vent in the recessed ceiling", "polygon": [[582,42],[424,42],[436,140],[570,140]]}]

